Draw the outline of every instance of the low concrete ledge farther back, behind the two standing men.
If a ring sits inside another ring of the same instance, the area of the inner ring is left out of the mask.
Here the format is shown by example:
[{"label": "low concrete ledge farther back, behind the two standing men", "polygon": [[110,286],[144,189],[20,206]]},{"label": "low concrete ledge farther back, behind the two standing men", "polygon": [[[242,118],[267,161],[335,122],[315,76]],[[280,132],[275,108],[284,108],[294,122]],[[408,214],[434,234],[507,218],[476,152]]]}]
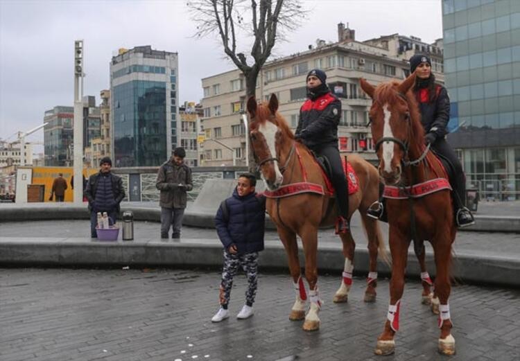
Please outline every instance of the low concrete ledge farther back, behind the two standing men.
[{"label": "low concrete ledge farther back, behind the two standing men", "polygon": [[[135,220],[150,222],[161,221],[161,210],[146,206],[122,204],[122,211],[132,211]],[[193,227],[214,227],[215,212],[207,207],[191,204],[184,213],[182,224]],[[26,220],[71,220],[90,219],[87,206],[75,204],[31,204],[31,206],[0,206],[0,222],[19,222]],[[459,231],[520,232],[520,217],[508,215],[475,215],[476,223]],[[268,229],[275,229],[269,217]]]}]

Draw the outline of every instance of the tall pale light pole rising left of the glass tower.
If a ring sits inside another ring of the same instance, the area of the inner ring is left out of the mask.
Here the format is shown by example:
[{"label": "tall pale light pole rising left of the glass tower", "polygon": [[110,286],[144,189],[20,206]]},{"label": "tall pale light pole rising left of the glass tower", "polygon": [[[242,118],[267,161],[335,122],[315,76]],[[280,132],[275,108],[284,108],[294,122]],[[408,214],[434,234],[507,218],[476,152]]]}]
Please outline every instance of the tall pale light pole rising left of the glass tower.
[{"label": "tall pale light pole rising left of the glass tower", "polygon": [[83,40],[74,42],[74,203],[83,203]]}]

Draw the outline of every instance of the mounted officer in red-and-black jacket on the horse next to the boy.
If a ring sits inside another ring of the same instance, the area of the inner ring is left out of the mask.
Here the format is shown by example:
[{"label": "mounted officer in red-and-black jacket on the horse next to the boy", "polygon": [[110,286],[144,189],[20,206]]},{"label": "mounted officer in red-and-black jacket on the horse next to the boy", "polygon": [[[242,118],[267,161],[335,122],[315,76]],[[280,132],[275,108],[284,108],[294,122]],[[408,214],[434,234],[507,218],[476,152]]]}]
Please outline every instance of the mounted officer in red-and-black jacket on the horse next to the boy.
[{"label": "mounted officer in red-and-black jacket on the horse next to the boy", "polygon": [[331,182],[336,189],[336,200],[340,209],[336,233],[349,230],[347,202],[347,179],[338,150],[338,124],[341,102],[327,87],[327,74],[313,69],[307,74],[307,99],[300,108],[300,120],[295,137],[317,155],[326,157],[332,168]]}]

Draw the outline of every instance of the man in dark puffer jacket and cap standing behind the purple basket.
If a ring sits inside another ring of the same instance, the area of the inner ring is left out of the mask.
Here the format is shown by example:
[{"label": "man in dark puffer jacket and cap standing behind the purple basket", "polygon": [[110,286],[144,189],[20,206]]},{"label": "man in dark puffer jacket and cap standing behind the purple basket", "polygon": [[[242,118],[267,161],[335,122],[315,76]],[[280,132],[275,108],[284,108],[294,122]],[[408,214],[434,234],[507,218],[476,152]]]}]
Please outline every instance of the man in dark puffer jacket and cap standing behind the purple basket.
[{"label": "man in dark puffer jacket and cap standing behind the purple basket", "polygon": [[112,161],[104,157],[100,161],[99,173],[91,175],[85,189],[85,197],[89,201],[90,211],[90,236],[97,238],[96,224],[97,213],[107,212],[110,224],[116,223],[119,213],[119,203],[125,197],[123,180],[121,177],[110,173]]}]

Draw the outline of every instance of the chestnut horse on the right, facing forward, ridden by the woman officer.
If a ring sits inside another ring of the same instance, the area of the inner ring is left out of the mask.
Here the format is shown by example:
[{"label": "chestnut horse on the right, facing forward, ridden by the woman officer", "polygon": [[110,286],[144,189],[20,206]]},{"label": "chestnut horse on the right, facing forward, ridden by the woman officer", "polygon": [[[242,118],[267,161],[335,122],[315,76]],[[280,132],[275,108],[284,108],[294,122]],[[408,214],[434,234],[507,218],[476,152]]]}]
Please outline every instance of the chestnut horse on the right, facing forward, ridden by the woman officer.
[{"label": "chestnut horse on the right, facing forward, ridden by the woman officer", "polygon": [[[415,74],[400,84],[390,82],[378,87],[361,79],[361,88],[372,98],[372,138],[376,142],[379,175],[387,186],[385,195],[388,195],[386,206],[392,254],[390,306],[375,353],[389,354],[395,350],[394,336],[399,328],[408,246],[413,239],[417,243],[416,249],[423,247],[422,240],[429,240],[433,247],[437,269],[435,295],[440,300],[438,349],[440,353],[452,355],[455,353],[455,339],[451,335],[448,298],[451,292],[451,245],[455,240],[456,225],[448,175],[435,155],[428,152],[429,146],[424,146],[419,108],[410,91],[414,83]],[[417,184],[421,186],[411,187]],[[431,192],[422,193],[428,189],[428,184],[433,184],[429,187]],[[387,189],[390,192],[391,186],[397,192],[393,194],[402,192],[404,196],[390,196]]]}]

